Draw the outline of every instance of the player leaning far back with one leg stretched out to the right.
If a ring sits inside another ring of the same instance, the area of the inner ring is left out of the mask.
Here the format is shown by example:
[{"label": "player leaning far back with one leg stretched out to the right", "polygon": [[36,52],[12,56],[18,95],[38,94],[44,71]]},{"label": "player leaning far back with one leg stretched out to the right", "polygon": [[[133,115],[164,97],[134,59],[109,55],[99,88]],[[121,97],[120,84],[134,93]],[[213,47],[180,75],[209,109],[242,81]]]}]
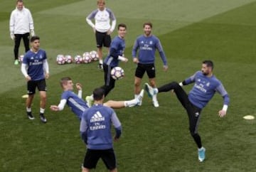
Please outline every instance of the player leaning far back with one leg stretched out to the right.
[{"label": "player leaning far back with one leg stretched out to the right", "polygon": [[[78,119],[81,119],[82,117],[82,112],[85,111],[85,109],[89,108],[89,105],[85,100],[82,100],[82,85],[80,83],[76,84],[76,88],[78,89],[78,95],[76,95],[73,92],[73,81],[71,80],[70,77],[63,77],[60,80],[60,86],[63,88],[63,93],[61,95],[61,100],[58,105],[51,105],[50,109],[53,111],[61,111],[64,109],[65,104],[70,107],[71,111],[76,114]],[[122,107],[134,107],[139,102],[142,101],[144,90],[141,92],[139,97],[134,100],[129,100],[129,101],[113,101],[109,100],[104,103],[105,106],[107,107],[112,107],[115,109],[122,108]]]}]

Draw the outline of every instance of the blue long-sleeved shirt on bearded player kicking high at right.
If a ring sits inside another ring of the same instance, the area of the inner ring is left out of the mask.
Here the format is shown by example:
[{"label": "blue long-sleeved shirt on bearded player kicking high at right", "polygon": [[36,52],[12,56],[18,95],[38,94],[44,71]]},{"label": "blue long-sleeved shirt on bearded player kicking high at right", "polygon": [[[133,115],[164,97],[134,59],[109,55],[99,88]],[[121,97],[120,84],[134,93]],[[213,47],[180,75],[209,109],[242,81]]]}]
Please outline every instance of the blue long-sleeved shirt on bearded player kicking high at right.
[{"label": "blue long-sleeved shirt on bearded player kicking high at right", "polygon": [[218,92],[223,97],[224,104],[229,104],[228,92],[215,75],[207,77],[203,75],[203,72],[198,71],[185,80],[186,85],[193,82],[195,82],[195,85],[193,85],[192,90],[188,93],[188,100],[196,107],[201,109],[206,107],[206,104],[211,100],[215,92]]}]

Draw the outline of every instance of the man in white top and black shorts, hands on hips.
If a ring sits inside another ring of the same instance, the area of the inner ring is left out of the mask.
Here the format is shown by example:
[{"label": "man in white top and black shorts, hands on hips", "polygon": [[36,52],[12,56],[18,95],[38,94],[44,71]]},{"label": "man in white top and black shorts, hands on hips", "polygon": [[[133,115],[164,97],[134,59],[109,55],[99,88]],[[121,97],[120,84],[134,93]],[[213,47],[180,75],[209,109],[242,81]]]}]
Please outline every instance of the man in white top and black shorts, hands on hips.
[{"label": "man in white top and black shorts, hands on hips", "polygon": [[[92,27],[95,33],[97,43],[97,54],[99,55],[99,68],[102,67],[102,46],[104,45],[107,50],[110,50],[111,37],[110,34],[114,31],[116,26],[116,18],[111,9],[105,7],[105,0],[97,0],[98,9],[92,11],[87,18],[87,23]],[[92,23],[92,18],[95,19],[95,23]],[[110,25],[112,21],[112,25]]]}]

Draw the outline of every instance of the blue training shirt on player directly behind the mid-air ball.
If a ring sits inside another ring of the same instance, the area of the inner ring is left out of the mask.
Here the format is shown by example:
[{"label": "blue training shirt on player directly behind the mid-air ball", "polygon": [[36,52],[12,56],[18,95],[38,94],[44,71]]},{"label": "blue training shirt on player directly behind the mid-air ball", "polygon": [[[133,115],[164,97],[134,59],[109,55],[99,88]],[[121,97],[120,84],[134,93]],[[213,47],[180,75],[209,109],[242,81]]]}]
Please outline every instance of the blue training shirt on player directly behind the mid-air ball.
[{"label": "blue training shirt on player directly behind the mid-air ball", "polygon": [[124,39],[116,36],[110,44],[110,53],[105,58],[104,63],[110,65],[111,67],[118,66],[119,60],[118,56],[123,56],[125,49]]}]

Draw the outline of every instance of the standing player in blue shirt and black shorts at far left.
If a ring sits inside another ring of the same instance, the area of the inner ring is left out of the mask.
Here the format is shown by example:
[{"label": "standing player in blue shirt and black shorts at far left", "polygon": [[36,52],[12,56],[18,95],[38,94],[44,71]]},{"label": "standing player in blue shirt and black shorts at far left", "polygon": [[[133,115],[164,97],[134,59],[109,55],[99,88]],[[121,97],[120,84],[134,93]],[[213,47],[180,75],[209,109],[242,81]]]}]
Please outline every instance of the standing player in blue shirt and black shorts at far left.
[{"label": "standing player in blue shirt and black shorts at far left", "polygon": [[31,50],[24,55],[21,64],[21,72],[27,80],[28,99],[26,100],[26,112],[28,119],[34,119],[31,112],[31,104],[36,93],[36,87],[40,94],[40,119],[46,123],[44,112],[46,109],[46,79],[49,77],[49,66],[46,51],[40,49],[39,36],[31,37]]}]

